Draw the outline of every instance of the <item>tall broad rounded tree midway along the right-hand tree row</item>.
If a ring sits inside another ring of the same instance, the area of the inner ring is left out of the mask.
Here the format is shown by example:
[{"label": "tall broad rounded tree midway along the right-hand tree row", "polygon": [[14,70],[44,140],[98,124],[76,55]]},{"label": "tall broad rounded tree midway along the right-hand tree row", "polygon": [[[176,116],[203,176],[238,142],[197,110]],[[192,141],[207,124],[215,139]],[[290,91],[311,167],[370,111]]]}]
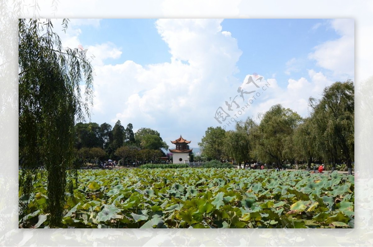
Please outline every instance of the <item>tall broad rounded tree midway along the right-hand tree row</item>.
[{"label": "tall broad rounded tree midway along the right-hand tree row", "polygon": [[259,126],[253,131],[254,148],[251,154],[262,162],[282,165],[287,158],[286,143],[301,121],[300,115],[282,105],[272,106],[262,115]]}]

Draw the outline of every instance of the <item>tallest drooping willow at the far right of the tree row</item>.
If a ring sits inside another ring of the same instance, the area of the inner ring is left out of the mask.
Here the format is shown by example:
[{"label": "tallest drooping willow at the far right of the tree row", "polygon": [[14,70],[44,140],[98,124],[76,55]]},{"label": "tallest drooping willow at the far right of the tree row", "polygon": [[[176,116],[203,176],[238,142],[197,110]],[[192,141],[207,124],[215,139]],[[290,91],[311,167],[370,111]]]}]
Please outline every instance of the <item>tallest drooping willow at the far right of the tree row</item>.
[{"label": "tallest drooping willow at the far right of the tree row", "polygon": [[331,161],[333,169],[336,157],[342,156],[347,162],[348,174],[352,174],[354,157],[354,83],[335,82],[326,87],[322,98],[310,98],[313,108],[313,123],[317,126],[319,150],[323,149],[324,158]]}]

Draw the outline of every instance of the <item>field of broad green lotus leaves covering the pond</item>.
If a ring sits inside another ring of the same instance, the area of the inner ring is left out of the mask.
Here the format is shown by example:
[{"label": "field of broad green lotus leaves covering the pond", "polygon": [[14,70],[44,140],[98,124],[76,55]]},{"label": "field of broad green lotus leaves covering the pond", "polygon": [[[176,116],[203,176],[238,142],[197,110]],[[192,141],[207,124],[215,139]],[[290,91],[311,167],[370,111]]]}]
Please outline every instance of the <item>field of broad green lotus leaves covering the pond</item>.
[{"label": "field of broad green lotus leaves covering the pond", "polygon": [[[354,176],[214,168],[81,170],[63,228],[353,228]],[[66,191],[67,192],[67,191]],[[50,225],[46,180],[23,227]]]}]

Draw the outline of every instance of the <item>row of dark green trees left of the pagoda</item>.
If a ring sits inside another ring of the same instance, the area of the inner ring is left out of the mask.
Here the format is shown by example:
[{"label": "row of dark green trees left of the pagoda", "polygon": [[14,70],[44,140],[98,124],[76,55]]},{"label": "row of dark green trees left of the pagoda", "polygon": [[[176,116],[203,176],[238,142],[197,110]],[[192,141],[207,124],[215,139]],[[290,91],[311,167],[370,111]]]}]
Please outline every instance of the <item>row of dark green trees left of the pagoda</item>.
[{"label": "row of dark green trees left of the pagoda", "polygon": [[159,162],[166,156],[161,148],[168,146],[160,134],[149,128],[132,131],[132,124],[124,128],[118,120],[112,128],[103,123],[77,123],[75,125],[75,158],[79,164],[100,163],[108,159],[119,160],[120,165]]}]

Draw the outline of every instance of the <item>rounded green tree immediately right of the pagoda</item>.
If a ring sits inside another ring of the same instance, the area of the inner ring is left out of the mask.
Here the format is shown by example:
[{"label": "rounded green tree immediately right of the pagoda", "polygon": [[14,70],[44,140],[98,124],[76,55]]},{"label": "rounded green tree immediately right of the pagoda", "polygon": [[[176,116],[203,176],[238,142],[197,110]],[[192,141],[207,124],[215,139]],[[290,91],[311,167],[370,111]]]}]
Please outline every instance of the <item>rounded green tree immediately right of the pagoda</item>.
[{"label": "rounded green tree immediately right of the pagoda", "polygon": [[222,160],[224,153],[225,130],[218,126],[208,127],[198,146],[201,147],[202,156],[208,159]]}]

